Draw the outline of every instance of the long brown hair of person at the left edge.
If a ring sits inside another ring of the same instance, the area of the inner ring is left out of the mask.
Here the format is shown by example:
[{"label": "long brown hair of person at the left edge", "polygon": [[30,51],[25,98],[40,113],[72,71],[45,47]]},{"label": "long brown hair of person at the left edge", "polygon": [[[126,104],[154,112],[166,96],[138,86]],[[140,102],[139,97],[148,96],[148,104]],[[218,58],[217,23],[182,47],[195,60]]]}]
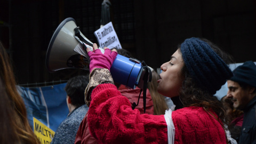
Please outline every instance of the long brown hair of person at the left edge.
[{"label": "long brown hair of person at the left edge", "polygon": [[12,64],[2,42],[0,42],[0,74],[2,117],[0,143],[39,144],[39,139],[29,126],[25,103],[17,90]]}]

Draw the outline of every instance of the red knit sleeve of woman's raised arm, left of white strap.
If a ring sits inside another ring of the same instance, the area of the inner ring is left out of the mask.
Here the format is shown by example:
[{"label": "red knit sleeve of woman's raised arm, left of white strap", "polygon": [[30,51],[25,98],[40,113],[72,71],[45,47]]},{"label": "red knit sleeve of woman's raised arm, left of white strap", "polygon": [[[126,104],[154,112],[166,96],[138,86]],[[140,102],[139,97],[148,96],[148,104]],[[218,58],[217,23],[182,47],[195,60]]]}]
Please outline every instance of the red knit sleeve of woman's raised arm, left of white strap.
[{"label": "red knit sleeve of woman's raised arm, left of white strap", "polygon": [[87,118],[99,143],[167,143],[164,115],[141,115],[138,109],[132,110],[130,101],[112,83],[92,90]]}]

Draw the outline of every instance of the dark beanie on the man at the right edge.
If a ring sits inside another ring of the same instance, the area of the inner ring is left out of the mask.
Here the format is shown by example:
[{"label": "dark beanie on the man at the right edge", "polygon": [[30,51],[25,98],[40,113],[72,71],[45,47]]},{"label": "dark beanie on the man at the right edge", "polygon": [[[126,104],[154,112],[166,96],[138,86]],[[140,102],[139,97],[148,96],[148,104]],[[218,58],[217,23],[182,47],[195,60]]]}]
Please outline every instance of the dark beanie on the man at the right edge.
[{"label": "dark beanie on the man at the right edge", "polygon": [[233,70],[231,81],[244,83],[256,87],[256,66],[253,61],[246,61],[243,65]]}]

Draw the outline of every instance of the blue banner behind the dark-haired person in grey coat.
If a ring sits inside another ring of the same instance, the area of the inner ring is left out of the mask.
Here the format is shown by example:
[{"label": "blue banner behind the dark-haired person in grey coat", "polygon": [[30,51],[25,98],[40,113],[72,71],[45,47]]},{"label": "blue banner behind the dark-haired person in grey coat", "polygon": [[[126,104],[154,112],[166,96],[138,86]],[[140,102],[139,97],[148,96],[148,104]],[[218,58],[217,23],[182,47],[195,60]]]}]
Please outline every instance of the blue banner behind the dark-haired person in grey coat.
[{"label": "blue banner behind the dark-haired person in grey coat", "polygon": [[[49,127],[54,132],[69,113],[64,90],[67,83],[43,86],[22,87],[17,86],[23,98],[29,120],[29,125],[34,128],[33,117]],[[33,129],[34,130],[34,129]]]}]

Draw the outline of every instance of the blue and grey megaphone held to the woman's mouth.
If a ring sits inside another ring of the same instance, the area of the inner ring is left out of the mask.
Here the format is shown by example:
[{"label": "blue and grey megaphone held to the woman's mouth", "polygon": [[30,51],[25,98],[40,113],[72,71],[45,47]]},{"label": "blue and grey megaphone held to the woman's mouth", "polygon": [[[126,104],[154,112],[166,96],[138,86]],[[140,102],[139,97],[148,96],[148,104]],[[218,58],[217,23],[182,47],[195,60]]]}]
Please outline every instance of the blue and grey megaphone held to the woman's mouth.
[{"label": "blue and grey megaphone held to the woman's mouth", "polygon": [[[76,26],[76,21],[73,18],[63,20],[54,31],[47,49],[47,70],[50,73],[67,68],[89,70],[90,58],[87,55],[86,47],[92,46],[92,44],[79,31],[79,27]],[[101,47],[99,49],[104,52]],[[80,50],[81,52],[75,50]],[[137,86],[143,89],[145,82],[151,81],[151,70],[145,62],[126,58],[119,54],[117,54],[110,68],[110,73],[114,82],[126,85],[131,89],[135,89]]]}]

